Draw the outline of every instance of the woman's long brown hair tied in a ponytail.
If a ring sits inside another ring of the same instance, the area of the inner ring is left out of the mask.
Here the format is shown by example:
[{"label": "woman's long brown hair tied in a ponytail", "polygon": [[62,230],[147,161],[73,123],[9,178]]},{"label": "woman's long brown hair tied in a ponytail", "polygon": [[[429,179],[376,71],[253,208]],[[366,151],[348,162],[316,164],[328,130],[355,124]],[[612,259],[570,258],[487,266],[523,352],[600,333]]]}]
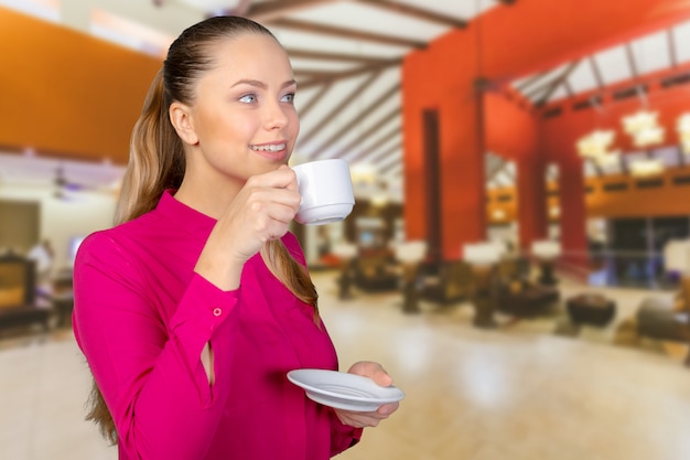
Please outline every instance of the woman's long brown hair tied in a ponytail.
[{"label": "woman's long brown hair tied in a ponytail", "polygon": [[[185,171],[184,148],[170,122],[170,105],[174,100],[183,104],[193,101],[196,81],[214,64],[212,45],[246,33],[274,39],[268,29],[249,19],[217,17],[186,29],[170,45],[132,130],[116,224],[153,210],[165,190],[180,186]],[[280,239],[267,243],[261,249],[261,257],[271,272],[295,297],[313,306],[314,321],[319,324],[319,295],[306,269],[290,255]],[[88,406],[86,418],[96,422],[104,437],[116,443],[115,422],[95,381]]]}]

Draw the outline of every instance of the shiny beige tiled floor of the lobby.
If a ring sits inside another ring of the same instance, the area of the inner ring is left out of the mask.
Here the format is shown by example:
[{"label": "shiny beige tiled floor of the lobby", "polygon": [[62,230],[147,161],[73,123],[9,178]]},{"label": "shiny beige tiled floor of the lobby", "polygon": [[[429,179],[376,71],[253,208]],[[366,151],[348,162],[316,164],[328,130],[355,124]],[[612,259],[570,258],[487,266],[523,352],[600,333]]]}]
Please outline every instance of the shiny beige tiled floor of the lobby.
[{"label": "shiny beige tiled floor of the lobby", "polygon": [[[406,392],[343,460],[690,459],[680,354],[651,341],[614,344],[649,292],[606,291],[616,323],[573,338],[557,333],[559,318],[479,330],[467,304],[403,314],[396,292],[339,301],[334,275],[315,281],[343,367],[379,361]],[[581,290],[562,285],[563,297]],[[0,340],[0,459],[115,460],[82,421],[89,378],[68,331]]]}]

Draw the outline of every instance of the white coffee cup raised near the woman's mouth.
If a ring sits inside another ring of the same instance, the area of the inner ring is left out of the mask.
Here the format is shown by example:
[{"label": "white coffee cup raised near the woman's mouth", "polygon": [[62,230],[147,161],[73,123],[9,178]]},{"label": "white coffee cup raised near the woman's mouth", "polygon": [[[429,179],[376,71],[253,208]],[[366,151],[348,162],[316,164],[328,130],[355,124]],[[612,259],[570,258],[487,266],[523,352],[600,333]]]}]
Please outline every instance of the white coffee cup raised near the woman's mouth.
[{"label": "white coffee cup raised near the woman's mouth", "polygon": [[344,220],[353,211],[355,194],[349,164],[339,158],[292,167],[302,195],[295,221],[323,225]]}]

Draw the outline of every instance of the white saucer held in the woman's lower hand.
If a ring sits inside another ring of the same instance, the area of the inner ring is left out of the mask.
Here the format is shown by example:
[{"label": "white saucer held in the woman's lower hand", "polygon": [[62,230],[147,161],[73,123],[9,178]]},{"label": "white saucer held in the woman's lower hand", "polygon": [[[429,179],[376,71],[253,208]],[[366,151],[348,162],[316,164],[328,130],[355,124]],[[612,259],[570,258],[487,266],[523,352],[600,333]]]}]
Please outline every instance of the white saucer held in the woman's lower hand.
[{"label": "white saucer held in the woman's lower hand", "polygon": [[304,388],[309,398],[337,409],[369,413],[405,397],[396,386],[379,386],[368,377],[344,372],[301,368],[290,371],[288,379]]}]

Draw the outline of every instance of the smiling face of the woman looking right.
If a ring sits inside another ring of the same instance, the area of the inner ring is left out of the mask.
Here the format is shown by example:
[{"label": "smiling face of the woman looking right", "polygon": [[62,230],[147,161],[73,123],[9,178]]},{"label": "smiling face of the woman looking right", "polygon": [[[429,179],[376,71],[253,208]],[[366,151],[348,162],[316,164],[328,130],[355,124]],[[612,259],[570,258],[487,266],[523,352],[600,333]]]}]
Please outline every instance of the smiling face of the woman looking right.
[{"label": "smiling face of the woman looking right", "polygon": [[300,129],[292,66],[276,40],[254,33],[222,41],[212,55],[190,107],[197,148],[187,165],[204,180],[244,184],[290,159]]}]

